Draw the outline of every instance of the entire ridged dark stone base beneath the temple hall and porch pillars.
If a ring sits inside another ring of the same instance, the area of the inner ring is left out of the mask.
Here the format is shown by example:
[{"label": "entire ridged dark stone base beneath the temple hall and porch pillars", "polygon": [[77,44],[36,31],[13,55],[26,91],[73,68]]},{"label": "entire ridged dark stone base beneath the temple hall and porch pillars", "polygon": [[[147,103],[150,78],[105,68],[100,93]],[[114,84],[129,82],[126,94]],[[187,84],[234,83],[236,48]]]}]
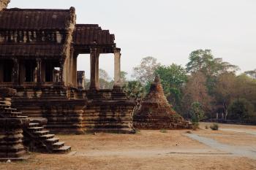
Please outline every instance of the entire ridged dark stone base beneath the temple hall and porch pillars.
[{"label": "entire ridged dark stone base beneath the temple hall and porch pillars", "polygon": [[132,134],[135,107],[121,88],[78,90],[75,88],[17,88],[13,104],[31,118],[46,118],[45,128],[55,134],[94,132]]}]

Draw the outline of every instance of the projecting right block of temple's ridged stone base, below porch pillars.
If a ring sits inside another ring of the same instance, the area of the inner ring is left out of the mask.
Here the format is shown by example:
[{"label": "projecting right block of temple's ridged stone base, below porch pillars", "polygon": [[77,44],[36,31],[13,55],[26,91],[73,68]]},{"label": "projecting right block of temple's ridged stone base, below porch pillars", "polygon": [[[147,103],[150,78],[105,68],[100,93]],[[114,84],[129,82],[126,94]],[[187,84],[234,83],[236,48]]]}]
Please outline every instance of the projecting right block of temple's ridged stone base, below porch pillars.
[{"label": "projecting right block of temple's ridged stone base, below porch pillars", "polygon": [[134,134],[130,101],[97,101],[86,106],[83,125],[86,132]]}]

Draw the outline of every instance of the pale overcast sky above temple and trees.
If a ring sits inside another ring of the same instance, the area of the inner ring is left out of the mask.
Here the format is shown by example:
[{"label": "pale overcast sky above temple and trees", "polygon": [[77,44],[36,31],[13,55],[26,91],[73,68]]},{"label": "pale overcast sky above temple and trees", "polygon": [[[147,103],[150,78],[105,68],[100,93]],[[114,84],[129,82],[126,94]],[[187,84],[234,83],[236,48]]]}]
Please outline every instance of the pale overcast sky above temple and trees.
[{"label": "pale overcast sky above temple and trees", "polygon": [[[9,7],[75,7],[77,23],[115,34],[121,69],[129,74],[149,55],[185,66],[197,49],[212,50],[241,72],[256,69],[255,0],[11,0]],[[99,67],[113,76],[113,55],[101,55]],[[89,55],[79,55],[78,69],[89,76]]]}]

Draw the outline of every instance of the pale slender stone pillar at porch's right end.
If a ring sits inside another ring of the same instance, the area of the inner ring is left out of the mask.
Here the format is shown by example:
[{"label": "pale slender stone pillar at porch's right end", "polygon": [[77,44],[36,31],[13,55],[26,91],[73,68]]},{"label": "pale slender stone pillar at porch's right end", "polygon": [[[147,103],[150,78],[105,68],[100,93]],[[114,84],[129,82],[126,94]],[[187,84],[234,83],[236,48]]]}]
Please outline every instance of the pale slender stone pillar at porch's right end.
[{"label": "pale slender stone pillar at porch's right end", "polygon": [[114,50],[114,56],[115,56],[115,71],[114,71],[114,86],[121,86],[121,49],[116,48]]}]

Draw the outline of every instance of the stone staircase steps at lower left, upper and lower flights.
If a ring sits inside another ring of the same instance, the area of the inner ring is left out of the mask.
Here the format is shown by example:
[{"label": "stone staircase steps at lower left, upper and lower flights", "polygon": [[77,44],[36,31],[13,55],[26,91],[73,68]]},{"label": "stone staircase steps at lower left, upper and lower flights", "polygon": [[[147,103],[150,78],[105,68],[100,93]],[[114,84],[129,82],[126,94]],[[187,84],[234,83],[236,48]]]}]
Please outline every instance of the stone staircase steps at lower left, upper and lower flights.
[{"label": "stone staircase steps at lower left, upper and lower flights", "polygon": [[[18,112],[17,109],[13,109],[11,104],[7,104],[5,101],[0,101],[0,117],[8,119],[29,118],[28,116],[23,116],[22,112]],[[56,138],[54,134],[50,134],[50,131],[45,130],[39,123],[31,122],[23,127],[23,135],[24,144],[29,146],[30,150],[50,153],[66,153],[71,150],[70,146],[64,146],[64,142],[59,142],[59,138]]]}]

